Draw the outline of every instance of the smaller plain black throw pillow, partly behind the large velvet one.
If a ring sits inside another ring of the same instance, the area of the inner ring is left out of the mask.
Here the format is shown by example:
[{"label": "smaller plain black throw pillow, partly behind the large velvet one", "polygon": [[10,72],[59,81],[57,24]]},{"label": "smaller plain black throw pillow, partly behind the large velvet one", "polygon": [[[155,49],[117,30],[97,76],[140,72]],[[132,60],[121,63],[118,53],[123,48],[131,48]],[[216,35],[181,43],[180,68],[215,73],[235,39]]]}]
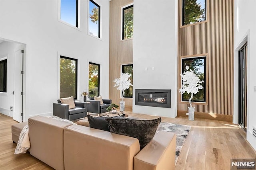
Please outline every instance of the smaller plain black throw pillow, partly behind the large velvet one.
[{"label": "smaller plain black throw pillow, partly behind the large velvet one", "polygon": [[94,129],[100,129],[103,131],[109,131],[108,123],[105,120],[105,118],[106,118],[105,116],[95,117],[95,116],[87,115],[87,117],[88,117],[90,127],[94,128]]}]

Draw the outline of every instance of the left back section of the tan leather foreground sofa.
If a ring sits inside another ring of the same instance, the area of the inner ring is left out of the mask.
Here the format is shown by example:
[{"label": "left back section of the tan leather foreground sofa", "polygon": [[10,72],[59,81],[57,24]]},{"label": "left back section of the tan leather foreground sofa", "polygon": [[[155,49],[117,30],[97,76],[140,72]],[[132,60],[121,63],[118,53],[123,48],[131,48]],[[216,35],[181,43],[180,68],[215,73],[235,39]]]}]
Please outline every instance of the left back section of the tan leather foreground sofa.
[{"label": "left back section of the tan leather foreground sofa", "polygon": [[56,170],[64,170],[63,131],[70,125],[48,117],[30,117],[30,154]]}]

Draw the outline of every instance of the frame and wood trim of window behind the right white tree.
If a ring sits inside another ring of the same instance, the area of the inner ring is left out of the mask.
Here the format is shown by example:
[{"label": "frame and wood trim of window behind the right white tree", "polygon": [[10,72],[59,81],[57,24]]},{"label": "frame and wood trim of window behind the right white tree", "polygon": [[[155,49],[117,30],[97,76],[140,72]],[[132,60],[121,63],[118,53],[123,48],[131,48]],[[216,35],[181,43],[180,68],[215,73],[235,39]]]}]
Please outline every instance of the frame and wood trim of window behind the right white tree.
[{"label": "frame and wood trim of window behind the right white tree", "polygon": [[[208,58],[208,54],[200,54],[200,55],[190,55],[190,56],[180,56],[179,58],[179,75],[182,72],[182,60],[183,59],[187,59],[187,60],[191,60],[191,59],[198,59],[198,58],[201,58],[201,57],[205,57],[205,61],[204,61],[204,102],[203,101],[198,101],[198,102],[195,102],[192,100],[192,103],[193,104],[196,104],[196,105],[208,105],[208,74],[209,74],[209,58]],[[182,79],[181,77],[179,76],[179,88],[181,88],[182,86]],[[179,92],[179,90],[178,90]],[[189,101],[182,101],[182,94],[179,95],[179,103],[180,104],[187,104]]]}]

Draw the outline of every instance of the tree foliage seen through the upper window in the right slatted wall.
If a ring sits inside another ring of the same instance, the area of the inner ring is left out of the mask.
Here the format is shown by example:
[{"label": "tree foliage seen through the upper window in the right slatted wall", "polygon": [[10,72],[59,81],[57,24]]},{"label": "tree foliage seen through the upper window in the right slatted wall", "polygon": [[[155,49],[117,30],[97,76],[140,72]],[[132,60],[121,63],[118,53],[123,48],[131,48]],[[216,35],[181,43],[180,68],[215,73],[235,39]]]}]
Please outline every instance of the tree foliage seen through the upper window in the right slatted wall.
[{"label": "tree foliage seen through the upper window in the right slatted wall", "polygon": [[184,0],[184,25],[204,21],[204,9],[196,0]]}]

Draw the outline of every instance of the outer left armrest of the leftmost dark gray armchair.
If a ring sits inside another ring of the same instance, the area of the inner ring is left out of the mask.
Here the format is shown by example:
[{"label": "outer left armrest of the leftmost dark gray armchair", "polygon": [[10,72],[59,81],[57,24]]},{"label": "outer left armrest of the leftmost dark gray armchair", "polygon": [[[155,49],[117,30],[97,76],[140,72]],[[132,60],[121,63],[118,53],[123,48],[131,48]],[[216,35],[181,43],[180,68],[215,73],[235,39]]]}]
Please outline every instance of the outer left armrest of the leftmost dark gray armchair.
[{"label": "outer left armrest of the leftmost dark gray armchair", "polygon": [[68,104],[54,103],[52,115],[69,120]]}]

